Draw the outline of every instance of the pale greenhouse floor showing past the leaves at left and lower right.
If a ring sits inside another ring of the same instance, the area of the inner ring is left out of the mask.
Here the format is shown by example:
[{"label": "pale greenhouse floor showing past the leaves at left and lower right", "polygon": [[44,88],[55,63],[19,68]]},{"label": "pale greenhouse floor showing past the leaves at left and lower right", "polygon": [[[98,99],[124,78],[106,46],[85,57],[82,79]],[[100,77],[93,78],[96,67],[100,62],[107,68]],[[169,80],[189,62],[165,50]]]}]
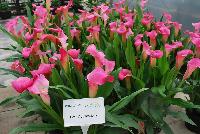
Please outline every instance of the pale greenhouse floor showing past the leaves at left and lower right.
[{"label": "pale greenhouse floor showing past the leaves at left and lower right", "polygon": [[[4,24],[6,21],[1,21],[0,24]],[[6,47],[9,44],[13,44],[13,41],[10,40],[8,37],[4,36],[0,32],[0,47]],[[12,55],[13,52],[6,52],[0,50],[0,59],[4,59],[8,57],[9,55]],[[0,67],[9,67],[10,64],[6,62],[0,62]],[[2,75],[3,72],[0,71],[0,84],[4,85],[10,85],[10,82],[14,79],[12,76],[5,76]],[[0,101],[2,101],[4,98],[9,96],[15,96],[17,93],[12,90],[11,88],[0,88]],[[182,97],[183,95],[178,95],[178,97]],[[177,107],[173,107],[174,110],[183,110]],[[12,104],[7,107],[0,107],[0,134],[8,134],[9,131],[13,128],[25,125],[29,122],[37,122],[39,121],[39,117],[33,117],[33,118],[24,118],[21,119],[19,117],[20,112],[23,109],[16,106],[15,104]],[[189,130],[187,130],[184,126],[184,122],[174,119],[172,117],[166,118],[167,122],[170,124],[171,128],[173,129],[175,134],[193,134]],[[162,133],[162,132],[161,132]],[[32,133],[32,134],[42,134],[42,133]]]}]

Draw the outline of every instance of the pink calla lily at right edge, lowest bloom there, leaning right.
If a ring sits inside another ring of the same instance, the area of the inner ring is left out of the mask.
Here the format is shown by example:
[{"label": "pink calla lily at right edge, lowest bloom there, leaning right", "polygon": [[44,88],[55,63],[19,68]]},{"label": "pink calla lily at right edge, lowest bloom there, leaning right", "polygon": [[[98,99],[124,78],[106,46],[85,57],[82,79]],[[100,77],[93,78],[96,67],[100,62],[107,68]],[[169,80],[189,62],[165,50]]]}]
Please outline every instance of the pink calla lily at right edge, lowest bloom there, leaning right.
[{"label": "pink calla lily at right edge, lowest bloom there, leaning right", "polygon": [[188,79],[197,68],[200,68],[199,58],[193,58],[190,61],[188,61],[187,70],[183,76],[183,79]]}]

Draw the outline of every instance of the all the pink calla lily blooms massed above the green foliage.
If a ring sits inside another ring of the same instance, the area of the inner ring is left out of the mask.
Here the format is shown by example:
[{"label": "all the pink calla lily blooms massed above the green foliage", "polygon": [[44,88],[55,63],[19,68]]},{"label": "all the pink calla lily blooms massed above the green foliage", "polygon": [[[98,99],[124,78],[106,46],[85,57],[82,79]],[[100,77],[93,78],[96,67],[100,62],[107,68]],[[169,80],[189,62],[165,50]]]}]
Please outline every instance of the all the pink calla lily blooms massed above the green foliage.
[{"label": "all the pink calla lily blooms massed above the green foliage", "polygon": [[[142,12],[147,2],[148,0],[141,0]],[[7,30],[14,37],[22,40],[22,61],[29,61],[28,66],[31,70],[28,72],[20,60],[16,60],[11,65],[11,69],[19,74],[28,73],[31,75],[30,78],[20,77],[12,82],[16,91],[22,93],[28,90],[30,93],[40,95],[44,102],[49,104],[48,79],[52,69],[63,68],[68,73],[71,71],[72,61],[77,71],[83,75],[86,67],[84,68],[82,54],[88,54],[95,60],[94,70],[87,74],[89,96],[95,97],[99,86],[114,81],[112,73],[116,67],[115,61],[106,58],[101,45],[103,43],[105,46],[111,44],[111,47],[114,48],[112,44],[114,44],[116,37],[119,37],[120,45],[123,45],[120,49],[126,48],[127,42],[132,41],[137,59],[132,60],[138,62],[138,68],[141,62],[150,63],[150,67],[155,68],[159,59],[170,59],[172,52],[176,57],[175,67],[177,70],[183,66],[187,56],[193,57],[188,62],[184,79],[189,78],[192,72],[200,67],[200,23],[193,23],[195,31],[188,32],[190,41],[195,47],[193,52],[190,49],[183,49],[183,42],[178,39],[182,25],[173,22],[169,13],[163,14],[164,21],[155,22],[152,13],[144,12],[140,24],[136,25],[138,13],[126,10],[125,0],[115,2],[113,8],[101,4],[94,7],[91,12],[79,10],[78,19],[74,19],[76,16],[69,10],[72,5],[73,1],[70,0],[66,6],[56,9],[56,17],[59,18],[57,23],[51,21],[55,19],[55,16],[50,13],[51,1],[48,0],[46,8],[42,5],[33,5],[34,24],[30,24],[28,18],[24,16],[16,17],[6,24]],[[113,20],[111,16],[114,15],[119,18]],[[19,20],[22,21],[22,27],[17,30]],[[135,27],[141,27],[141,30],[134,31]],[[173,40],[171,39],[173,34],[171,29],[174,29]],[[110,42],[102,41],[104,40],[103,34],[107,35],[107,33],[110,35],[110,40],[108,39]],[[106,44],[106,42],[109,43]],[[88,43],[91,45],[88,46]],[[99,51],[96,46],[102,51]],[[61,63],[61,66],[58,62]],[[119,80],[125,79],[126,86],[130,89],[130,78],[135,74],[132,74],[133,69],[130,70],[130,67],[125,68],[127,69],[122,69],[119,72],[118,78]]]}]

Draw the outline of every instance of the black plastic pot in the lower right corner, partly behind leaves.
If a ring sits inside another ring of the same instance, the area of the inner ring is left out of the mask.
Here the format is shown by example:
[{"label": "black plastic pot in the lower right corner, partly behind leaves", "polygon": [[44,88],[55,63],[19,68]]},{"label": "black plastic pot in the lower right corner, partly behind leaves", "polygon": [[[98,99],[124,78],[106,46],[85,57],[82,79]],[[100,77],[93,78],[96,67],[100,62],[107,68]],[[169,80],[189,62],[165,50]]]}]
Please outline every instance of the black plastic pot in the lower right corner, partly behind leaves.
[{"label": "black plastic pot in the lower right corner, partly behind leaves", "polygon": [[191,125],[185,122],[185,126],[192,132],[200,134],[200,112],[196,109],[186,109],[187,116],[197,125]]}]

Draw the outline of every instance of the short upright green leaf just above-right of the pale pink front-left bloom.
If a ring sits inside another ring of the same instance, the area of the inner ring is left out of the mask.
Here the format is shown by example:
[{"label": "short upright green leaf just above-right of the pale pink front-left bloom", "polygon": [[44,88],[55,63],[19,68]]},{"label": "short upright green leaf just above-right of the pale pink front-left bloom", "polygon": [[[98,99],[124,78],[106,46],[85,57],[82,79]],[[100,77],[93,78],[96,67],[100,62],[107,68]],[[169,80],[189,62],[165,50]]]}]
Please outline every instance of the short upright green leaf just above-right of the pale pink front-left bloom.
[{"label": "short upright green leaf just above-right of the pale pink front-left bloom", "polygon": [[57,69],[52,69],[51,79],[52,79],[54,85],[64,85]]}]

